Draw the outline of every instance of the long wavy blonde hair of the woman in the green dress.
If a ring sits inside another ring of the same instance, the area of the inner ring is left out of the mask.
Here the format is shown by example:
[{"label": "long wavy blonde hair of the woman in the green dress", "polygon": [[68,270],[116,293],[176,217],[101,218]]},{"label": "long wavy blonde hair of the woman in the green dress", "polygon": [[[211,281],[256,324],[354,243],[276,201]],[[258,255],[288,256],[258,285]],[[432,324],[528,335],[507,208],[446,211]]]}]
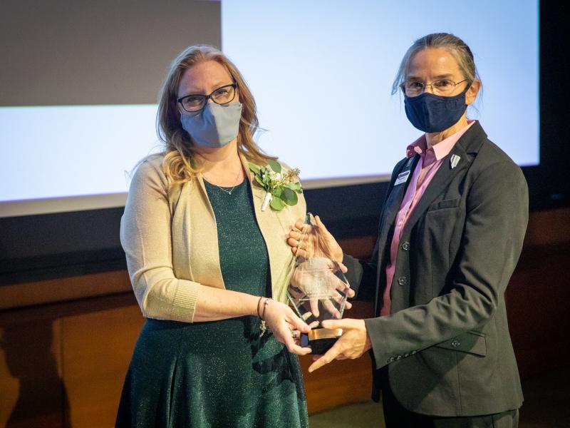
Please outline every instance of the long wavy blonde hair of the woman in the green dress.
[{"label": "long wavy blonde hair of the woman in the green dress", "polygon": [[170,66],[159,93],[157,113],[158,138],[165,143],[165,158],[162,169],[171,185],[180,185],[195,178],[200,171],[196,161],[195,147],[190,135],[182,128],[177,106],[178,86],[188,68],[203,61],[217,61],[222,64],[237,83],[239,102],[242,103],[242,118],[239,120],[237,150],[249,161],[266,163],[268,156],[253,140],[259,126],[254,97],[237,67],[227,56],[212,46],[190,46],[182,51]]}]

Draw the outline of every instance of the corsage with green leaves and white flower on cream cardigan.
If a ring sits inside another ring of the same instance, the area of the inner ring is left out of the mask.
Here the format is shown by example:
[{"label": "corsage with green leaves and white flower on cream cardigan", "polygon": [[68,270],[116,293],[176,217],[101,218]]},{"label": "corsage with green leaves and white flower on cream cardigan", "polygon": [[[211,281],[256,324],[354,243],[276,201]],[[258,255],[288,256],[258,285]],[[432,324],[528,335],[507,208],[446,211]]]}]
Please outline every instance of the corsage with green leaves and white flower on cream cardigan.
[{"label": "corsage with green leaves and white flower on cream cardigan", "polygon": [[281,172],[279,162],[269,159],[267,166],[261,168],[254,163],[249,163],[249,170],[254,173],[257,184],[266,192],[261,211],[266,210],[267,205],[276,211],[281,211],[285,205],[296,205],[299,200],[297,193],[303,193],[301,183],[295,181],[301,173],[299,168]]}]

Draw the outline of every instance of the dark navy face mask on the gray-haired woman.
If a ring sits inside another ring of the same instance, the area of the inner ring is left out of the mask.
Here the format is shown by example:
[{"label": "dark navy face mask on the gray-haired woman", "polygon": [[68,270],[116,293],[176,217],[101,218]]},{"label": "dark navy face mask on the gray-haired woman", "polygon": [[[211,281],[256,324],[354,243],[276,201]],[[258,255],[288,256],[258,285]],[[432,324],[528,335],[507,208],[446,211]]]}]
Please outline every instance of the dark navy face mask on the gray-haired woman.
[{"label": "dark navy face mask on the gray-haired woman", "polygon": [[420,131],[445,131],[455,125],[465,113],[467,89],[455,96],[440,96],[429,92],[413,97],[404,96],[405,115]]}]

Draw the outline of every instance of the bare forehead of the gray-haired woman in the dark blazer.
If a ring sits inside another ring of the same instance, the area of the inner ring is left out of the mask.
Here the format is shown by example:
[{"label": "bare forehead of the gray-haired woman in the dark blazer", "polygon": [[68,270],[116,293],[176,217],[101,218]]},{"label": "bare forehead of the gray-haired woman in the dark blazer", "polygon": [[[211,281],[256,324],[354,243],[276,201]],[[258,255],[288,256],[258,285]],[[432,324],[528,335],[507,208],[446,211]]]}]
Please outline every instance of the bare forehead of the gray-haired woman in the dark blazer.
[{"label": "bare forehead of the gray-haired woman in the dark blazer", "polygon": [[415,77],[445,75],[460,77],[463,73],[450,51],[443,48],[426,48],[413,54],[405,74]]}]

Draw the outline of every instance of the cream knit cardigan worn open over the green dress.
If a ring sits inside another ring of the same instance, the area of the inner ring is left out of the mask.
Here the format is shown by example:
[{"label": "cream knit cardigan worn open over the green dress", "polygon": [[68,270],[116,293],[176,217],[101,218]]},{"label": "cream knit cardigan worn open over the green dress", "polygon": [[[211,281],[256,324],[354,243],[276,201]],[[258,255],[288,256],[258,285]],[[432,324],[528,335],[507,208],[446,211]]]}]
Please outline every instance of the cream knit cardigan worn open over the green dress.
[{"label": "cream knit cardigan worn open over the green dress", "polygon": [[[265,190],[252,185],[253,174],[240,156],[252,187],[255,217],[269,253],[273,298],[286,302],[294,258],[286,243],[306,203],[276,212],[261,211]],[[168,193],[162,155],[145,158],[135,171],[121,218],[120,242],[127,256],[130,281],[142,315],[192,322],[199,285],[224,288],[219,266],[216,218],[202,175]],[[284,168],[287,168],[284,165]],[[247,251],[247,248],[244,248]]]}]

